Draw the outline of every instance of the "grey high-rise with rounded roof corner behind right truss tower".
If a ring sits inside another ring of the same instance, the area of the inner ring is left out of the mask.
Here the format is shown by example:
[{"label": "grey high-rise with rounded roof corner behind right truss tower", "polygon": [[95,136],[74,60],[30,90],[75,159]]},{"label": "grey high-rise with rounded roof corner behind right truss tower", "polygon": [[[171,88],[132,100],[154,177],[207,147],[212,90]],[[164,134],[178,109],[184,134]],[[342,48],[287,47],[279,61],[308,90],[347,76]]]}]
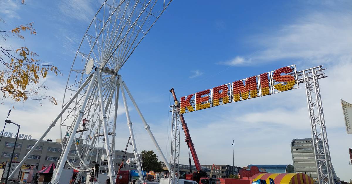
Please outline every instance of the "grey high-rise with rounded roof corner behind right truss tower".
[{"label": "grey high-rise with rounded roof corner behind right truss tower", "polygon": [[[318,144],[321,149],[323,149],[321,141],[318,142]],[[315,164],[312,138],[293,139],[291,142],[291,153],[296,173],[301,172],[308,176],[312,176],[313,180],[317,182],[318,170]],[[327,173],[326,168],[322,168],[322,171]]]}]

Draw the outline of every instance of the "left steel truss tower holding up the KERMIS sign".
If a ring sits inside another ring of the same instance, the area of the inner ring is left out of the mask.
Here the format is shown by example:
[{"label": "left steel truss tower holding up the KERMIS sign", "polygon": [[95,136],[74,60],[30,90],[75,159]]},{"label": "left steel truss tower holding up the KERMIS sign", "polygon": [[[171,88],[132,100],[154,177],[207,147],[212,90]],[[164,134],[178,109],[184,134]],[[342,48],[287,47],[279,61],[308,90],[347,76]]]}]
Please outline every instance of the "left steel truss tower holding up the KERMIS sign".
[{"label": "left steel truss tower holding up the KERMIS sign", "polygon": [[181,120],[180,120],[180,104],[175,101],[174,105],[170,106],[170,112],[172,112],[171,122],[171,156],[170,156],[170,167],[171,171],[169,175],[170,184],[178,184],[178,178],[180,177],[180,131],[181,131]]}]

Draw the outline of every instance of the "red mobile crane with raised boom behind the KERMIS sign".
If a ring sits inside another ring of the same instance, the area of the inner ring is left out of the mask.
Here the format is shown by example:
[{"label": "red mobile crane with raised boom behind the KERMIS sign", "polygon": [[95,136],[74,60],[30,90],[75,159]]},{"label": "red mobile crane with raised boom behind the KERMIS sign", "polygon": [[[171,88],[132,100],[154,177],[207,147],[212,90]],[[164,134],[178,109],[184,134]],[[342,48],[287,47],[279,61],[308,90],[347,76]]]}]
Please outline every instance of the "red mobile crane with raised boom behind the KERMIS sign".
[{"label": "red mobile crane with raised boom behind the KERMIS sign", "polygon": [[[180,102],[177,101],[174,88],[171,88],[170,92],[172,93],[172,96],[174,96],[175,104],[180,105]],[[193,161],[194,161],[194,164],[195,164],[196,169],[197,169],[197,172],[191,173],[192,172],[192,170],[191,170],[192,166],[190,165],[190,173],[186,174],[186,179],[194,180],[194,181],[196,181],[199,184],[220,184],[220,180],[219,179],[207,177],[207,173],[202,170],[202,167],[200,165],[196,150],[194,149],[194,145],[193,145],[193,142],[192,142],[192,139],[191,139],[191,135],[189,134],[187,123],[186,123],[186,121],[184,121],[184,118],[183,118],[182,114],[180,114],[180,121],[181,121],[182,129],[184,131],[184,135],[186,136],[186,139],[184,141],[186,142],[186,144],[189,147],[189,150],[191,151],[191,154],[192,154],[192,157],[193,157]]]}]

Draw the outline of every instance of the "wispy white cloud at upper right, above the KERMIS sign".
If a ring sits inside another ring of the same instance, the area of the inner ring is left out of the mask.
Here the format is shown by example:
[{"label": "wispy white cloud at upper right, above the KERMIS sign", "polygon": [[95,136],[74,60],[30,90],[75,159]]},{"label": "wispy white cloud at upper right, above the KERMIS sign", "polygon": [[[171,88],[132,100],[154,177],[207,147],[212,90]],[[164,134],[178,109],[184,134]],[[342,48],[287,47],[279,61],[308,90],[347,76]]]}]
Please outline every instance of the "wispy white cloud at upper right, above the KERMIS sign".
[{"label": "wispy white cloud at upper right, above the KERMIS sign", "polygon": [[[259,36],[268,48],[252,56],[254,61],[301,59],[313,63],[337,62],[352,50],[352,15],[321,12],[284,26],[275,35]],[[257,40],[255,41],[257,42]]]}]

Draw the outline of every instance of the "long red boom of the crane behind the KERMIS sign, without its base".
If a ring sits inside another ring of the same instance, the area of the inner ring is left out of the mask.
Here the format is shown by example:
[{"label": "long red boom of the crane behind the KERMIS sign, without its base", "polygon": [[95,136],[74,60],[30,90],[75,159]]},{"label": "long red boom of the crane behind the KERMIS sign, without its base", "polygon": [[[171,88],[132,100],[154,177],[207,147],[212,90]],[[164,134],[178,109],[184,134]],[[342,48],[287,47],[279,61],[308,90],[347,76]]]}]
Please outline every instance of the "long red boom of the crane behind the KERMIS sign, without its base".
[{"label": "long red boom of the crane behind the KERMIS sign, without its base", "polygon": [[[177,98],[176,98],[176,94],[175,94],[174,88],[171,88],[170,92],[172,93],[172,96],[174,96],[174,101],[176,102]],[[188,147],[189,147],[189,149],[191,151],[191,154],[192,154],[192,157],[193,157],[193,161],[194,161],[194,164],[196,166],[197,171],[201,171],[202,167],[201,167],[201,165],[199,163],[199,159],[198,159],[196,150],[194,149],[194,145],[193,145],[193,142],[192,142],[192,139],[191,139],[191,135],[189,134],[187,123],[186,123],[186,121],[184,121],[184,118],[183,118],[182,114],[180,114],[180,120],[181,120],[182,129],[184,131],[184,135],[186,136],[186,139],[184,141],[186,141],[186,143],[187,143],[187,145],[188,145]],[[190,166],[190,168],[191,168],[191,166]]]}]

